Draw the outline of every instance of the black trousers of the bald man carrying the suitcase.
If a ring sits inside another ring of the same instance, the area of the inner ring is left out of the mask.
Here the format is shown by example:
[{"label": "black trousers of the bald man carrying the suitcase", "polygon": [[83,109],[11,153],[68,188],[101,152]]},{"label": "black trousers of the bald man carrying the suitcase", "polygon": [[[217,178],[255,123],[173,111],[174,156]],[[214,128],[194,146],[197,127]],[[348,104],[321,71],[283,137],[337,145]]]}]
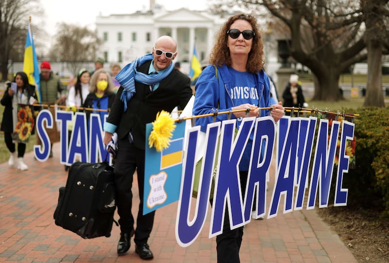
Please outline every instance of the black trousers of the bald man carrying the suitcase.
[{"label": "black trousers of the bald man carrying the suitcase", "polygon": [[133,175],[137,171],[139,190],[139,210],[135,229],[135,244],[147,243],[154,224],[155,211],[143,215],[143,186],[144,186],[144,150],[139,149],[130,143],[128,138],[118,142],[118,152],[115,161],[115,184],[117,195],[118,214],[120,216],[120,229],[124,233],[129,233],[134,227],[134,217],[132,215],[131,191]]}]

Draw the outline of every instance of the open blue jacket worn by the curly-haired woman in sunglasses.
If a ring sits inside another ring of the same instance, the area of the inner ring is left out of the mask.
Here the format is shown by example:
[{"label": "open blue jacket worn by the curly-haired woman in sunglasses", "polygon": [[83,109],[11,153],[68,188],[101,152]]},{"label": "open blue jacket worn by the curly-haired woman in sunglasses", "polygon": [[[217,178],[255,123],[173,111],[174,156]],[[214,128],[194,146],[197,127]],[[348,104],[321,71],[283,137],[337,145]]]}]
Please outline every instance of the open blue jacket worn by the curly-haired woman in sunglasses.
[{"label": "open blue jacket worn by the curly-haired woman in sunglasses", "polygon": [[[207,66],[200,74],[195,85],[195,103],[193,106],[193,115],[202,115],[214,113],[218,108],[219,112],[229,111],[234,105],[230,97],[231,83],[230,73],[226,65],[217,67],[216,77],[215,68],[213,65]],[[255,74],[255,88],[257,88],[259,96],[259,107],[270,107],[270,83],[269,78],[264,70]],[[261,117],[267,116],[269,110],[261,110]],[[216,121],[224,121],[228,119],[228,114],[217,115]],[[231,119],[236,117],[231,114]],[[201,126],[201,131],[206,132],[207,124],[213,122],[213,117],[197,118],[195,124]],[[240,126],[240,121],[237,121],[237,127]],[[251,145],[253,133],[248,140],[244,155],[239,164],[241,171],[248,171],[250,161]]]}]

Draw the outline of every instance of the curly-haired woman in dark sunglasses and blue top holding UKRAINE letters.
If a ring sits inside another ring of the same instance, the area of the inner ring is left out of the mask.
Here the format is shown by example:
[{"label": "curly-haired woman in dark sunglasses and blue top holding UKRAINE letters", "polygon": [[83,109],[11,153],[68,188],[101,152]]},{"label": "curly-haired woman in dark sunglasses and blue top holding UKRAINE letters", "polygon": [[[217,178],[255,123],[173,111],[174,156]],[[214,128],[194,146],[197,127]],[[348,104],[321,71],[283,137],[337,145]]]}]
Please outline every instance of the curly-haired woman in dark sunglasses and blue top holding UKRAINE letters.
[{"label": "curly-haired woman in dark sunglasses and blue top holding UKRAINE letters", "polygon": [[[209,59],[211,65],[202,71],[195,85],[193,114],[246,109],[231,114],[231,119],[237,119],[239,128],[242,119],[247,116],[262,117],[269,114],[268,110],[260,110],[259,107],[272,106],[272,117],[276,122],[280,120],[284,109],[281,102],[276,105],[270,103],[270,83],[263,69],[263,49],[256,18],[246,14],[228,18],[213,46]],[[201,125],[201,131],[205,132],[207,124],[212,123],[213,118],[197,118],[196,125]],[[216,121],[221,122],[227,118],[227,114],[217,115]],[[239,162],[239,173],[236,175],[237,180],[240,180],[242,198],[245,196],[253,136],[252,132]],[[235,174],[219,176],[235,178]],[[217,262],[240,262],[242,237],[243,226],[230,229],[226,204],[223,230],[216,237]]]}]

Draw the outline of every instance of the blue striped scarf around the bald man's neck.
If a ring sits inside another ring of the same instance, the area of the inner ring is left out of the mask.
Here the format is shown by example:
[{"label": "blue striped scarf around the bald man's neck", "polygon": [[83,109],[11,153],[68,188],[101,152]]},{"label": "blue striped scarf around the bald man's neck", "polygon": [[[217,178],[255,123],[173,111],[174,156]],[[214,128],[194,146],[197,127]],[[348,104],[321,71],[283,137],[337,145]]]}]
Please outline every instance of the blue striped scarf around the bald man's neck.
[{"label": "blue striped scarf around the bald man's neck", "polygon": [[174,69],[173,63],[170,63],[169,68],[162,71],[160,74],[145,74],[137,70],[138,65],[142,65],[144,62],[152,60],[153,54],[148,53],[140,58],[136,59],[134,62],[127,64],[120,72],[115,76],[115,79],[123,86],[124,90],[120,97],[124,103],[124,111],[127,110],[127,102],[135,94],[135,81],[138,81],[147,85],[154,85],[159,83],[162,79],[167,77],[170,72]]}]

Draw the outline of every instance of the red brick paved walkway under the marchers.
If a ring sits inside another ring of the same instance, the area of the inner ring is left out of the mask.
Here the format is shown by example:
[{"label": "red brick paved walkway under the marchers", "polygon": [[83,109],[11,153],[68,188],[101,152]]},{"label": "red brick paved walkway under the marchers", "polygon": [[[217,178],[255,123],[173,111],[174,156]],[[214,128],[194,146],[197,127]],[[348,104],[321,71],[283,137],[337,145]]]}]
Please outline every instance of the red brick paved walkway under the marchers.
[{"label": "red brick paved walkway under the marchers", "polygon": [[[54,157],[44,163],[34,160],[33,153],[26,154],[28,171],[9,168],[7,162],[0,164],[0,262],[144,262],[135,253],[133,239],[129,252],[118,257],[120,230],[115,225],[111,237],[85,240],[54,224],[58,188],[65,185],[67,173],[59,163],[58,143],[53,148]],[[139,199],[136,183],[134,200]],[[133,207],[136,214],[138,204]],[[215,238],[208,238],[211,210],[200,236],[186,248],[176,242],[176,212],[177,202],[157,210],[149,239],[154,253],[151,262],[216,263]],[[245,226],[240,258],[242,263],[357,262],[316,210],[305,209],[252,220]]]}]

